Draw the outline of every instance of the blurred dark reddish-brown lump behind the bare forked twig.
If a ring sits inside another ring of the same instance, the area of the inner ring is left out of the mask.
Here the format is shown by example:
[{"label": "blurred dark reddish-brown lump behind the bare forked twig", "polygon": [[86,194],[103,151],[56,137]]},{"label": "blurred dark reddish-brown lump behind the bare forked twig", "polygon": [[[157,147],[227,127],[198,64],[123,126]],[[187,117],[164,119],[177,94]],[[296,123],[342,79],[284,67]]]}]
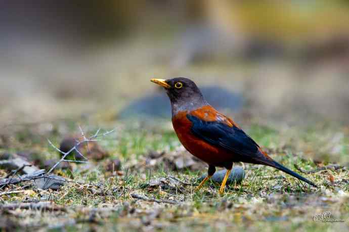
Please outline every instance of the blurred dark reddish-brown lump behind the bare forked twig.
[{"label": "blurred dark reddish-brown lump behind the bare forked twig", "polygon": [[[64,153],[69,152],[76,144],[81,141],[82,138],[80,136],[68,136],[65,137],[61,144],[60,144],[60,150]],[[97,142],[89,142],[89,143],[83,143],[78,146],[79,152],[72,152],[71,157],[68,155],[66,159],[69,160],[85,160],[80,154],[82,154],[84,157],[92,160],[102,160],[104,158],[107,158],[109,156],[109,153],[105,151]],[[60,154],[62,156],[62,154]]]}]

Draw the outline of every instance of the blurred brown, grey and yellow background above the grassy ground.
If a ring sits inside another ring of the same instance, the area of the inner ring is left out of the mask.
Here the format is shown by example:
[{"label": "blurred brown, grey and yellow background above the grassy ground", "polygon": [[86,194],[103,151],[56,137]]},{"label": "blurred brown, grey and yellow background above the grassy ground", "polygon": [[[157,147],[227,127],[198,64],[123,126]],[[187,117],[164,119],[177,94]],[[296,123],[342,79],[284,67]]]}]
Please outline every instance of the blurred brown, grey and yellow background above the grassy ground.
[{"label": "blurred brown, grey and yellow background above the grassy ground", "polygon": [[345,0],[1,1],[0,32],[3,130],[168,119],[149,79],[177,76],[237,121],[349,121]]}]

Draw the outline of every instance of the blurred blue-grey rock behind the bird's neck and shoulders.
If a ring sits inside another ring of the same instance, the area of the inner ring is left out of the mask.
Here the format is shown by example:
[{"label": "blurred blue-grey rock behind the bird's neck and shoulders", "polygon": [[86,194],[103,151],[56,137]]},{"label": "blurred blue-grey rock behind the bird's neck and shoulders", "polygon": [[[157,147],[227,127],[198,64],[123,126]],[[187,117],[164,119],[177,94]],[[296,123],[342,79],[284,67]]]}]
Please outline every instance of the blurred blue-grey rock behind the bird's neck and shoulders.
[{"label": "blurred blue-grey rock behind the bird's neck and shoulders", "polygon": [[[241,94],[231,92],[220,86],[206,86],[200,88],[207,102],[217,110],[232,110],[238,112],[244,103]],[[166,94],[155,92],[153,95],[135,100],[118,114],[120,119],[128,118],[169,118],[171,108]]]}]

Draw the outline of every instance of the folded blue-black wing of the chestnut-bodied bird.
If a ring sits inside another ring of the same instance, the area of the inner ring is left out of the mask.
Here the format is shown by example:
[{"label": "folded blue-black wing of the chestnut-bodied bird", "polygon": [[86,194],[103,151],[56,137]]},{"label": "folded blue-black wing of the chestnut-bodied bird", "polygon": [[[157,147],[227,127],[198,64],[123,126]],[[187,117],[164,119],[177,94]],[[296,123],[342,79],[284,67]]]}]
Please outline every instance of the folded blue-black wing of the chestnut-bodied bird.
[{"label": "folded blue-black wing of the chestnut-bodied bird", "polygon": [[193,134],[207,143],[250,158],[258,154],[259,146],[235,125],[229,126],[220,121],[204,121],[190,114],[187,114],[187,118],[193,123]]}]

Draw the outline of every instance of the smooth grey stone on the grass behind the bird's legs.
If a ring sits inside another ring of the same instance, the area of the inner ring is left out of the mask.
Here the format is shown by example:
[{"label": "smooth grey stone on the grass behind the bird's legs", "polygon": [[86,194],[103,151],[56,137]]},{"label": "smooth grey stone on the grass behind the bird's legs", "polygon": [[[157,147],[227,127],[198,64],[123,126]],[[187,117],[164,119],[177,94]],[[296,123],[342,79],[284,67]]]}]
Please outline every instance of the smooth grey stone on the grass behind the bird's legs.
[{"label": "smooth grey stone on the grass behind the bird's legs", "polygon": [[[224,170],[220,170],[220,171],[216,171],[213,176],[211,177],[211,179],[214,181],[214,182],[217,182],[217,183],[222,183],[223,179],[224,179],[224,176],[226,175],[227,173],[227,170],[224,169]],[[199,180],[202,181],[205,177],[207,176],[207,173],[206,174],[203,174]],[[240,166],[234,166],[233,170],[231,171],[229,177],[228,177],[228,180],[227,180],[227,185],[230,185],[234,182],[236,183],[241,183],[241,181],[245,178],[245,171],[242,167]]]}]

